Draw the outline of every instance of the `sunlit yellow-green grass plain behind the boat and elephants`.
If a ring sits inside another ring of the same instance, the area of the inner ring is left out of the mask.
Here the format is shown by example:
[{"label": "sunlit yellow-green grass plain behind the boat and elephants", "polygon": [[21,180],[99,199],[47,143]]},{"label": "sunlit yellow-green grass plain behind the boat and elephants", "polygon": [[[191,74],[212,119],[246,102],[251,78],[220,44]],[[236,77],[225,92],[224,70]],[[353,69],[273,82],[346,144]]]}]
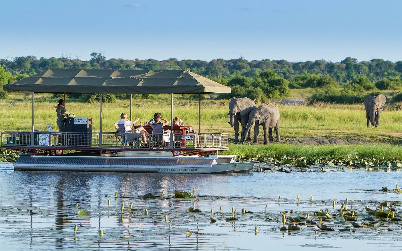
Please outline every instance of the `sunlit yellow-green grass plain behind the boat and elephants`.
[{"label": "sunlit yellow-green grass plain behind the boat and elephants", "polygon": [[[133,118],[149,121],[155,112],[170,118],[170,95],[159,95],[156,100],[133,100]],[[201,107],[201,133],[222,132],[233,136],[233,128],[228,124],[228,100],[206,99]],[[37,94],[35,98],[35,129],[46,130],[51,124],[57,130],[55,118],[56,98],[51,94]],[[363,104],[317,104],[288,106],[277,104],[281,112],[281,138],[286,140],[303,139],[354,139],[361,143],[399,143],[402,136],[402,113],[386,107],[381,114],[378,128],[367,128]],[[67,100],[69,112],[79,117],[92,117],[93,131],[99,130],[99,104]],[[174,116],[179,116],[185,124],[198,127],[198,100],[190,95],[174,96]],[[129,100],[117,100],[103,105],[103,131],[114,131],[114,124],[121,112],[129,113]],[[10,94],[0,100],[0,130],[29,131],[31,129],[30,94]],[[254,131],[254,130],[252,130]],[[263,136],[260,130],[260,138]]]}]

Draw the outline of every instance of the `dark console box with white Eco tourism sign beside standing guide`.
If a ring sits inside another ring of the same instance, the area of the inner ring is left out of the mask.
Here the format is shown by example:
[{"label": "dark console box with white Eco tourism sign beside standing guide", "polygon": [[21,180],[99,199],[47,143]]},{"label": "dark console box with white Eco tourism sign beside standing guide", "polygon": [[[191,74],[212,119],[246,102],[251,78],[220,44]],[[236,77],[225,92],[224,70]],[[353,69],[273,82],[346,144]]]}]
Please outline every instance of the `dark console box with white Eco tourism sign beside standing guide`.
[{"label": "dark console box with white Eco tourism sign beside standing guide", "polygon": [[68,117],[65,132],[67,133],[66,146],[92,146],[92,118]]}]

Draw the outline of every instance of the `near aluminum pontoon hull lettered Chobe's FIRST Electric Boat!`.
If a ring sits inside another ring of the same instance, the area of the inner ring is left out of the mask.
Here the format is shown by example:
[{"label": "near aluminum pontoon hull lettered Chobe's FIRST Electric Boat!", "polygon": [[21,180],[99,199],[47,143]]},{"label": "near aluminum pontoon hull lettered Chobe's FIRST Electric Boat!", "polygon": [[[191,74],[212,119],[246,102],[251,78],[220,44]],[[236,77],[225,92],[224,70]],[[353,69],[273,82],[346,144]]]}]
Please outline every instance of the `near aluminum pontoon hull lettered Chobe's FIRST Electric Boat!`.
[{"label": "near aluminum pontoon hull lettered Chobe's FIRST Electric Boat!", "polygon": [[202,157],[88,157],[21,156],[16,171],[92,171],[130,173],[230,174],[237,163],[219,163]]}]

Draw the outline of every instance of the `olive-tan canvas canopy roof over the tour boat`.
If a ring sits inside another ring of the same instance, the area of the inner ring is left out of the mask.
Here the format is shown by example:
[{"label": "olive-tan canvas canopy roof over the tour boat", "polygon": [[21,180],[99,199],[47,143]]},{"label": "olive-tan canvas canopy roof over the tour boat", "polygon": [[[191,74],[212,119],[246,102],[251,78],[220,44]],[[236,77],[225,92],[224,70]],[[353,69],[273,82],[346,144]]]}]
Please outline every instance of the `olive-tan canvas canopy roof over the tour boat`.
[{"label": "olive-tan canvas canopy roof over the tour boat", "polygon": [[187,70],[48,69],[6,84],[3,89],[39,93],[230,93],[230,87]]}]

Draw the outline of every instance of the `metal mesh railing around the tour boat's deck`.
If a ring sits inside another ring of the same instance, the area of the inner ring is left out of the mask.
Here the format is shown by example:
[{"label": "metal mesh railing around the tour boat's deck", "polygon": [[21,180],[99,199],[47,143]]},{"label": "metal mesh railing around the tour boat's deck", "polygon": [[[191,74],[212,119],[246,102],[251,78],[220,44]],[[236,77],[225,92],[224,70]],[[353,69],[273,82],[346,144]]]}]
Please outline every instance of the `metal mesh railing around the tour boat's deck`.
[{"label": "metal mesh railing around the tour boat's deck", "polygon": [[[31,137],[33,134],[33,137]],[[99,139],[102,137],[102,147]],[[21,148],[74,148],[74,149],[221,149],[229,147],[229,135],[226,133],[48,133],[48,132],[16,132],[1,133],[1,147]],[[31,139],[33,138],[33,144]]]}]

